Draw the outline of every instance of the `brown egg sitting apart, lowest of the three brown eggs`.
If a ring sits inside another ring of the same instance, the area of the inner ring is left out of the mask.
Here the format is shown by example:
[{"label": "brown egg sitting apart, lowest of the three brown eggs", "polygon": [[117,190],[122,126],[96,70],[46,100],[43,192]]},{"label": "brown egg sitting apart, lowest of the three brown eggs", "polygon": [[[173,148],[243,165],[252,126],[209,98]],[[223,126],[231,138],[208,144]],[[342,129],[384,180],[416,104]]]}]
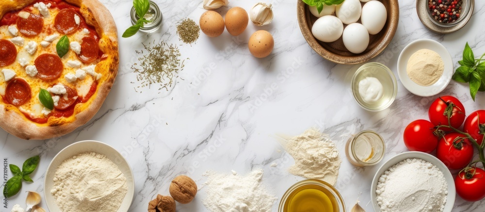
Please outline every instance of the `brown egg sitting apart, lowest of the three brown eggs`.
[{"label": "brown egg sitting apart, lowest of the three brown eggs", "polygon": [[263,58],[271,54],[275,47],[275,40],[268,31],[259,30],[249,38],[248,47],[253,56]]}]

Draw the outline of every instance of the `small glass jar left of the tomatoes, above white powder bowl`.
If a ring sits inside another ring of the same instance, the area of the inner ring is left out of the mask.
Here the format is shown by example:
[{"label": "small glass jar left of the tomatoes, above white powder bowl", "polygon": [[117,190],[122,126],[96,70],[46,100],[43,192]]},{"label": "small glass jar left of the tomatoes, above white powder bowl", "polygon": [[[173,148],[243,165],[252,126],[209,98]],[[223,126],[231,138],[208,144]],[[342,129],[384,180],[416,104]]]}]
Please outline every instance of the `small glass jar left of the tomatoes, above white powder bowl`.
[{"label": "small glass jar left of the tomatoes, above white powder bowl", "polygon": [[379,163],[386,152],[386,143],[377,132],[364,130],[350,138],[345,145],[345,155],[356,166]]}]

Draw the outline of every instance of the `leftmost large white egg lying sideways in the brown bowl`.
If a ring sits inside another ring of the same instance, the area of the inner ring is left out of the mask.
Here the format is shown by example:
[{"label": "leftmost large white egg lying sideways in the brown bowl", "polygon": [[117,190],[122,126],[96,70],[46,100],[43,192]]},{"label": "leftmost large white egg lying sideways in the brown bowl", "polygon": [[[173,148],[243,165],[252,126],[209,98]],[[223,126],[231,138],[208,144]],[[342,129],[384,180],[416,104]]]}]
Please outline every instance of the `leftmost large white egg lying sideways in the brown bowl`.
[{"label": "leftmost large white egg lying sideways in the brown bowl", "polygon": [[322,16],[311,27],[315,38],[323,42],[334,42],[343,32],[343,23],[336,16]]}]

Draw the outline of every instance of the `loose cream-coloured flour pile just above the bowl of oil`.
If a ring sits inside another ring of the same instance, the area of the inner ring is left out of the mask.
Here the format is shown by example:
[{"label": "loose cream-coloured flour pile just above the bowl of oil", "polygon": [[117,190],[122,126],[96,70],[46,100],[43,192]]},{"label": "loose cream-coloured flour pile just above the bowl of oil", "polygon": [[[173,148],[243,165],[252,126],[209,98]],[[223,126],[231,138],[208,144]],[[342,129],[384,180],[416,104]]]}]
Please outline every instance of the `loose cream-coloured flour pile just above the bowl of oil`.
[{"label": "loose cream-coloured flour pile just above the bowl of oil", "polygon": [[285,149],[295,160],[295,164],[288,169],[291,174],[320,179],[332,185],[337,183],[342,161],[328,135],[311,128],[288,140]]}]

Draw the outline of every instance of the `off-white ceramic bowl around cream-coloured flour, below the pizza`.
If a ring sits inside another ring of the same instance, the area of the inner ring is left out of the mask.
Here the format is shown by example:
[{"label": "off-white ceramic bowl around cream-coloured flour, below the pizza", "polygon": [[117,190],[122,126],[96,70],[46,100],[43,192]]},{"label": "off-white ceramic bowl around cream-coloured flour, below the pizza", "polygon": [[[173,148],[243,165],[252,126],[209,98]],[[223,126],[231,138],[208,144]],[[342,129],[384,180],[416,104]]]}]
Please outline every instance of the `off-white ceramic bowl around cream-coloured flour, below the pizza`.
[{"label": "off-white ceramic bowl around cream-coloured flour, below the pizza", "polygon": [[54,174],[56,172],[57,166],[59,166],[65,159],[70,158],[74,155],[83,152],[96,152],[99,154],[105,155],[109,158],[114,164],[118,166],[120,171],[125,175],[127,179],[127,186],[128,186],[128,193],[126,194],[125,198],[121,202],[121,206],[118,209],[118,212],[127,212],[129,207],[131,206],[131,201],[133,200],[134,195],[134,188],[135,183],[133,180],[133,173],[131,172],[131,168],[128,162],[121,156],[121,154],[116,151],[113,147],[99,142],[99,141],[80,141],[74,144],[71,144],[61,150],[57,155],[52,159],[47,168],[46,178],[44,179],[44,196],[46,198],[47,207],[49,211],[52,212],[59,212],[61,211],[57,206],[56,200],[54,196],[50,194],[50,190],[54,185]]}]

